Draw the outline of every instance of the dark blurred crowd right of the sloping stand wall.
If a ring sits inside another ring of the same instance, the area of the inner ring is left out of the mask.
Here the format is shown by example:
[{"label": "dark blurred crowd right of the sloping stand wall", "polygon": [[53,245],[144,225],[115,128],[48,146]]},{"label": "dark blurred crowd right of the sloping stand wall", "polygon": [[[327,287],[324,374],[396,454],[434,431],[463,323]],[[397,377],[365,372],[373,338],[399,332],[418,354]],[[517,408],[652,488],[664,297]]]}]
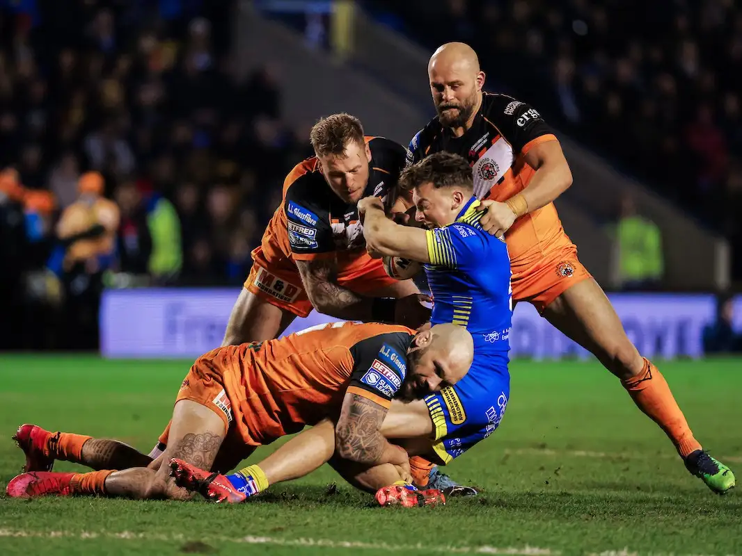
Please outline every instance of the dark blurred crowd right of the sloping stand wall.
[{"label": "dark blurred crowd right of the sloping stand wall", "polygon": [[[487,87],[534,105],[735,244],[742,279],[742,4],[373,0],[433,49],[475,47]],[[607,216],[607,215],[606,215]]]}]

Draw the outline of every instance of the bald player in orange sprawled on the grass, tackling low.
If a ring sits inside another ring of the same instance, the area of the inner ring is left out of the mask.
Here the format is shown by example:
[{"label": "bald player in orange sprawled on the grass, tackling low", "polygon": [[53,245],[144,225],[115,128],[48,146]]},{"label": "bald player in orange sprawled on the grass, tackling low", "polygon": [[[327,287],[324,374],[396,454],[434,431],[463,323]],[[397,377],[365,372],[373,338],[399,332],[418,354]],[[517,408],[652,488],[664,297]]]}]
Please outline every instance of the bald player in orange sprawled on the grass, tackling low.
[{"label": "bald player in orange sprawled on the grass, tackling low", "polygon": [[[338,421],[338,442],[361,452],[367,469],[387,470],[375,485],[381,489],[409,478],[407,451],[381,433],[392,400],[420,400],[456,384],[473,354],[471,335],[457,325],[416,333],[375,322],[335,322],[280,340],[217,348],[197,359],[185,376],[160,460],[120,471],[43,471],[54,459],[95,469],[100,457],[125,445],[24,425],[16,440],[26,454],[27,472],[8,483],[7,494],[185,500],[190,494],[175,484],[163,461],[177,458],[181,466],[224,472],[257,446],[327,418]],[[250,480],[267,486],[269,477],[253,474]]]}]

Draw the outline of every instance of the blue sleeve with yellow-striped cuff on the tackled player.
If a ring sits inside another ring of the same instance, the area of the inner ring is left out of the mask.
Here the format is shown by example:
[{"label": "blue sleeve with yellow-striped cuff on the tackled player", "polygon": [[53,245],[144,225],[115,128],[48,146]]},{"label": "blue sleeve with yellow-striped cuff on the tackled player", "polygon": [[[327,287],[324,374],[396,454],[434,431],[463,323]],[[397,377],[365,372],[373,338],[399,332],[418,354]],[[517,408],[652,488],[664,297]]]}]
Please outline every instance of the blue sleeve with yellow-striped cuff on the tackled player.
[{"label": "blue sleeve with yellow-striped cuff on the tackled player", "polygon": [[467,268],[489,254],[487,232],[468,224],[455,223],[445,228],[428,230],[427,254],[430,263],[445,268]]}]

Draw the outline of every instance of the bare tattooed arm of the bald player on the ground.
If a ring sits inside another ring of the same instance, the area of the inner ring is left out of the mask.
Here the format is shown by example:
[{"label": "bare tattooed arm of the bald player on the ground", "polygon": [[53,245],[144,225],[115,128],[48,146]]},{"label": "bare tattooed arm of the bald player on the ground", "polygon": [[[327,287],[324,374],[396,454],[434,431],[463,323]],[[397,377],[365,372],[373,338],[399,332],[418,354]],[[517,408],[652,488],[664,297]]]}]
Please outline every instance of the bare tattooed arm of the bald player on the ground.
[{"label": "bare tattooed arm of the bald player on the ground", "polygon": [[407,452],[381,434],[387,408],[358,394],[345,394],[335,426],[335,453],[344,460],[367,465],[407,463]]}]

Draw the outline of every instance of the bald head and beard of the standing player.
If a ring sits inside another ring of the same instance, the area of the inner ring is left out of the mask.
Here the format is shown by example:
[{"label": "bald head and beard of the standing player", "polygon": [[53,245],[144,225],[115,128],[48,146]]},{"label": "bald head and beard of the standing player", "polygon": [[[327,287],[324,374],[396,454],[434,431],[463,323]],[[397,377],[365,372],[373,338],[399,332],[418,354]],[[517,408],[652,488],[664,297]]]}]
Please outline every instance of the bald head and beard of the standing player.
[{"label": "bald head and beard of the standing player", "polygon": [[474,49],[464,42],[443,44],[430,56],[427,76],[441,124],[464,128],[479,107],[485,85]]}]

